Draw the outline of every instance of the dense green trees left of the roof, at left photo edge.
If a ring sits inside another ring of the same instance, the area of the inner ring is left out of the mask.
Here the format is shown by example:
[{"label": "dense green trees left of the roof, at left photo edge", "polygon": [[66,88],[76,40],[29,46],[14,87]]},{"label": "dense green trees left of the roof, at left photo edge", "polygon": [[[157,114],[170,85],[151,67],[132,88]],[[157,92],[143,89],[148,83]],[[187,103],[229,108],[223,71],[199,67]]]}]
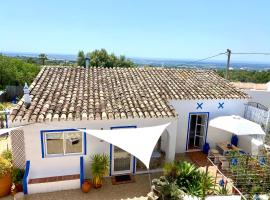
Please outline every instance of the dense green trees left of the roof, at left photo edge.
[{"label": "dense green trees left of the roof, at left photo edge", "polygon": [[6,85],[30,84],[39,70],[38,65],[0,55],[0,89]]}]

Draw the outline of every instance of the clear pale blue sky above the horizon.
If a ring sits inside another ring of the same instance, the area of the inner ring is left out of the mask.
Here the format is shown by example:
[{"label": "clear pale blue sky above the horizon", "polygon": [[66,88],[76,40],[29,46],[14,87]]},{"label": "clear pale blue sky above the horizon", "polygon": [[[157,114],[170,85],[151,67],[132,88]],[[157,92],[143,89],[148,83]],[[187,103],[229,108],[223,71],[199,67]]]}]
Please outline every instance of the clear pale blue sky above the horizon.
[{"label": "clear pale blue sky above the horizon", "polygon": [[[200,59],[230,48],[270,52],[270,1],[6,0],[0,51]],[[221,56],[217,59],[226,59]],[[270,62],[270,56],[232,60]]]}]

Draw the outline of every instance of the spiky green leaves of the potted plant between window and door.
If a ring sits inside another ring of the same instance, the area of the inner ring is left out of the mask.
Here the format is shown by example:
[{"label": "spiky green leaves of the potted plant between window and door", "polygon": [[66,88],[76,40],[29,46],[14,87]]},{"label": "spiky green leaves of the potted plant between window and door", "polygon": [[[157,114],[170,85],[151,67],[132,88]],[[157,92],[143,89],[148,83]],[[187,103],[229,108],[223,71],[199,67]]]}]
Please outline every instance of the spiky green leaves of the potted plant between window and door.
[{"label": "spiky green leaves of the potted plant between window and door", "polygon": [[95,154],[92,156],[91,172],[93,177],[103,177],[109,170],[109,156]]}]

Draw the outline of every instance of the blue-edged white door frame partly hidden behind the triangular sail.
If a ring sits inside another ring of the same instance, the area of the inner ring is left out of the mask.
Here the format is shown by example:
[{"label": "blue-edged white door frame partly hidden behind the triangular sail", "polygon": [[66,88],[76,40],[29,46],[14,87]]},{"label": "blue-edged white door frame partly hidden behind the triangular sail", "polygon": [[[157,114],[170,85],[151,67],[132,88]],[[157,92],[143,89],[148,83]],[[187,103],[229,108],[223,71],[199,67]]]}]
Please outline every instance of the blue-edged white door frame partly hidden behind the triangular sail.
[{"label": "blue-edged white door frame partly hidden behind the triangular sail", "polygon": [[[110,127],[111,130],[113,129],[122,129],[122,128],[137,128],[136,125],[129,125],[129,126],[112,126]],[[110,176],[112,175],[119,175],[119,174],[127,174],[127,173],[135,173],[135,162],[136,162],[136,158],[135,156],[131,155],[130,157],[130,170],[126,170],[126,171],[120,171],[115,173],[114,172],[114,145],[110,144]]]}]

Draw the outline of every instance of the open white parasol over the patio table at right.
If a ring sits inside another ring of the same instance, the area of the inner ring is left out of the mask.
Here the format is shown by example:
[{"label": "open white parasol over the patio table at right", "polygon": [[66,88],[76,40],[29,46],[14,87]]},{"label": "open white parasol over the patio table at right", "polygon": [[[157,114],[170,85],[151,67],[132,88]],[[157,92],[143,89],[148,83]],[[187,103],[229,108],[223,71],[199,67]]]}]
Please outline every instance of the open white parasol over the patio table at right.
[{"label": "open white parasol over the patio table at right", "polygon": [[262,127],[240,116],[221,116],[210,120],[209,126],[235,135],[265,135]]}]

